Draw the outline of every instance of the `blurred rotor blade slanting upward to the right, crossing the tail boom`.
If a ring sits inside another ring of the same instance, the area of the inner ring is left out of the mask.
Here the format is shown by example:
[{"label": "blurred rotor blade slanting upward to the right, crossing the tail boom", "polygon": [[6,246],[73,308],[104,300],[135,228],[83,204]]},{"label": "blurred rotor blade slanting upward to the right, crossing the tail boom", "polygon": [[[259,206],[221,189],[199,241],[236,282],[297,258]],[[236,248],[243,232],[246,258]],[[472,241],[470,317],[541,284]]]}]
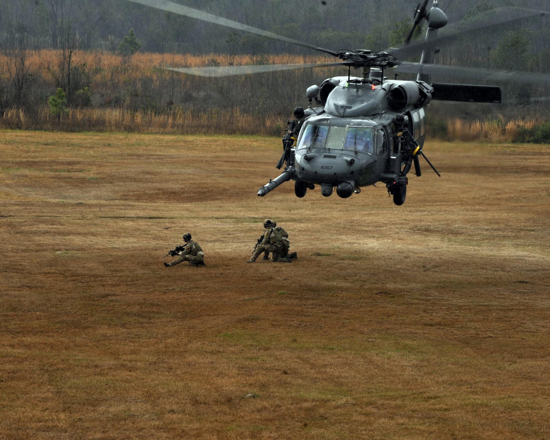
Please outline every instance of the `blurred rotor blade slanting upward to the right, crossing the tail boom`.
[{"label": "blurred rotor blade slanting upward to the right, crossing the tail boom", "polygon": [[389,48],[384,52],[389,53],[398,59],[406,59],[416,54],[419,54],[425,49],[431,49],[437,46],[442,46],[457,40],[459,37],[471,34],[481,30],[489,30],[497,28],[505,24],[511,24],[515,21],[521,21],[527,18],[544,17],[550,13],[525,8],[497,8],[492,9],[486,14],[482,14],[476,19],[475,24],[465,25],[456,30],[442,31],[440,35],[430,41],[419,41],[408,46],[399,48]]}]

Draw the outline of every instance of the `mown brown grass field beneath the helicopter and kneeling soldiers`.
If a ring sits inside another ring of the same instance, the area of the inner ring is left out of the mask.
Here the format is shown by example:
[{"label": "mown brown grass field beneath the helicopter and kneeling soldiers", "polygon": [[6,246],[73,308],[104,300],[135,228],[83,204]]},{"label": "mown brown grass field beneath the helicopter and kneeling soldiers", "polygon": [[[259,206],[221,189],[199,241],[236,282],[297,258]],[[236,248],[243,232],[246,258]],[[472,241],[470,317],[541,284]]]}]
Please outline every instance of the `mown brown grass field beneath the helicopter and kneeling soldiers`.
[{"label": "mown brown grass field beneath the helicopter and kneeling soldiers", "polygon": [[0,131],[1,439],[550,437],[548,146],[428,143],[397,207],[257,197],[280,144]]}]

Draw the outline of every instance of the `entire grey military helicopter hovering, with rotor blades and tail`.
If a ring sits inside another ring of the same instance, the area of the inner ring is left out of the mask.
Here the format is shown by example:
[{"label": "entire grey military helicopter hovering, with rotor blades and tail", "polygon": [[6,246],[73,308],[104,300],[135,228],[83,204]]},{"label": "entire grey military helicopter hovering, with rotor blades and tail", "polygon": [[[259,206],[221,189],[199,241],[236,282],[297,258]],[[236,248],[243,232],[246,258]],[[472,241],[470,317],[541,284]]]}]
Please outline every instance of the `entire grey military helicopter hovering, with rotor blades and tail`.
[{"label": "entire grey military helicopter hovering, with rotor blades and tail", "polygon": [[[372,52],[331,51],[167,0],[129,1],[308,47],[342,59],[341,62],[318,64],[169,69],[201,76],[229,76],[337,65],[348,68],[347,76],[329,78],[320,87],[313,85],[307,89],[310,107],[305,112],[298,109],[296,116],[302,119],[299,122],[290,120],[287,135],[283,138],[284,152],[277,168],[281,169],[283,163],[286,163],[284,171],[260,188],[259,196],[265,196],[288,180],[294,180],[298,197],[304,197],[307,189],[320,185],[323,196],[330,196],[336,188],[337,194],[343,198],[353,193],[359,194],[362,186],[382,182],[386,184],[388,193],[393,195],[395,205],[403,205],[409,183],[407,175],[413,163],[415,174],[421,175],[419,156],[423,156],[439,175],[422,151],[426,134],[425,107],[430,101],[502,102],[500,87],[431,83],[432,74],[515,83],[550,83],[550,75],[544,74],[432,64],[434,54],[439,51],[437,46],[478,30],[498,28],[548,14],[538,10],[492,10],[489,18],[438,35],[438,30],[447,25],[447,15],[438,8],[437,0],[433,0],[430,9],[428,0],[424,0],[416,8],[414,25],[407,42],[410,42],[416,26],[422,20],[428,24],[425,41]],[[420,52],[420,63],[399,61]],[[351,67],[361,68],[362,76],[351,76]],[[418,76],[416,81],[398,81],[397,75],[395,80],[387,80],[384,71],[392,74],[416,73]],[[321,107],[311,108],[313,99]]]}]

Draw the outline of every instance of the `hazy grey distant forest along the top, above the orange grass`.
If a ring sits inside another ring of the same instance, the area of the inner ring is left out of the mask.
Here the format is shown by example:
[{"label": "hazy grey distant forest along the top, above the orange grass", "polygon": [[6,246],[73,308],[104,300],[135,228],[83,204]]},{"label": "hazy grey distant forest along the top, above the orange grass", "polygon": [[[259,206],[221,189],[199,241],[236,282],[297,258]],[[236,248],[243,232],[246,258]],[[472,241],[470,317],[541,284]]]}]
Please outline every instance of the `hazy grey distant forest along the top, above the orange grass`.
[{"label": "hazy grey distant forest along the top, above the orange grass", "polygon": [[[178,2],[178,0],[175,0]],[[403,43],[419,0],[179,0],[221,17],[297,40],[338,50],[382,50]],[[323,5],[323,3],[325,3]],[[547,0],[442,0],[449,23],[469,20],[495,7],[548,9]],[[13,35],[25,32],[29,48],[59,48],[67,26],[83,50],[116,51],[133,28],[145,52],[246,54],[304,53],[304,48],[250,34],[228,35],[227,27],[162,12],[127,0],[0,0],[0,45],[13,45]],[[538,23],[522,24],[537,33]],[[544,27],[544,26],[543,26]],[[396,32],[397,31],[397,32]],[[477,36],[495,42],[493,31]],[[547,36],[547,35],[546,35]],[[542,41],[542,35],[540,40]],[[229,41],[228,41],[229,40]],[[537,47],[534,47],[538,51]]]}]

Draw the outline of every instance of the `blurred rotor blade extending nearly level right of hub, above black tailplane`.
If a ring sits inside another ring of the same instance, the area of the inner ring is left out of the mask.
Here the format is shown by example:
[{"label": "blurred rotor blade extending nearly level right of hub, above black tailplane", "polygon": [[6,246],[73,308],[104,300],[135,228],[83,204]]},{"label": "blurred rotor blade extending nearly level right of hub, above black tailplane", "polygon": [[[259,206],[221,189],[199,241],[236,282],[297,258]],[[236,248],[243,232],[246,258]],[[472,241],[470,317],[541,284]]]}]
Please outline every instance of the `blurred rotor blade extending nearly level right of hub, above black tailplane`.
[{"label": "blurred rotor blade extending nearly level right of hub, above black tailplane", "polygon": [[473,67],[455,67],[452,65],[401,63],[394,67],[396,72],[425,73],[428,75],[450,75],[462,78],[475,78],[486,81],[508,81],[522,84],[550,84],[550,74],[513,72],[511,70],[480,69]]}]

